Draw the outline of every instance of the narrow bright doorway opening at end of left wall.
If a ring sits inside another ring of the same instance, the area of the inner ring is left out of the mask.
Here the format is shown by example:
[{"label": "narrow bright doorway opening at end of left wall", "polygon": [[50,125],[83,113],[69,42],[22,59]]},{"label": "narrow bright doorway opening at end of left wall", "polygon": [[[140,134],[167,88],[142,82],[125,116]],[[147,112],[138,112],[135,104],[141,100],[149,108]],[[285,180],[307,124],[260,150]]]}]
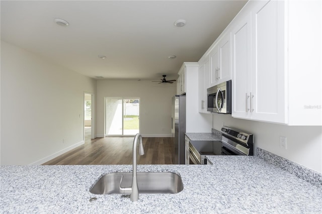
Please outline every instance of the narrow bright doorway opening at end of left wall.
[{"label": "narrow bright doorway opening at end of left wall", "polygon": [[91,142],[94,139],[93,130],[93,104],[94,95],[92,93],[84,93],[84,141]]}]

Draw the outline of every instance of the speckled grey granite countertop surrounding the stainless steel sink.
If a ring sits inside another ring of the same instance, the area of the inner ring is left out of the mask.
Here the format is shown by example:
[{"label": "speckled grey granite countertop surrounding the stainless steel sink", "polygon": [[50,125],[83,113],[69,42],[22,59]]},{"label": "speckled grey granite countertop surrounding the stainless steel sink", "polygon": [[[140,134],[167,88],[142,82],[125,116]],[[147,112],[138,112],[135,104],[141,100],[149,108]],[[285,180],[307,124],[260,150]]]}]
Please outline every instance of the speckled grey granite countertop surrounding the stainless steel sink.
[{"label": "speckled grey granite countertop surrounding the stainless steel sink", "polygon": [[[2,213],[320,213],[322,188],[254,156],[211,156],[213,165],[138,165],[176,172],[177,194],[95,195],[105,173],[131,165],[1,166]],[[97,200],[90,202],[91,197]]]}]

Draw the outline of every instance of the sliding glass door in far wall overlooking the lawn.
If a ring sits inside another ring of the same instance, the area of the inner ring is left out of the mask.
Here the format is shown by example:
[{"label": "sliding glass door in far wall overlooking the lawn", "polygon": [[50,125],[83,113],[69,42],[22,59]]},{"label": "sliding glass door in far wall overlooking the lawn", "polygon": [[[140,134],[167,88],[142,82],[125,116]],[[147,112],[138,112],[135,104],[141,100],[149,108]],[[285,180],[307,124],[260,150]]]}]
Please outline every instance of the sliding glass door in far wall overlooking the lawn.
[{"label": "sliding glass door in far wall overlooking the lawn", "polygon": [[105,97],[105,136],[134,136],[140,132],[140,99]]}]

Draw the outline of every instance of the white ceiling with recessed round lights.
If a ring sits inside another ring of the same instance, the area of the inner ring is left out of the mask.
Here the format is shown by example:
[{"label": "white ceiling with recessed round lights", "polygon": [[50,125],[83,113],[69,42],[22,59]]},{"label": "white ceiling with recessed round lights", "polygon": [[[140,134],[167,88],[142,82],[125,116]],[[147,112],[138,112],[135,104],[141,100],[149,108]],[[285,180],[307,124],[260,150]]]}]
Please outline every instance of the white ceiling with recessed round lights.
[{"label": "white ceiling with recessed round lights", "polygon": [[[246,2],[1,1],[1,39],[92,78],[172,79],[183,62],[201,58]],[[179,19],[186,26],[176,27]]]}]

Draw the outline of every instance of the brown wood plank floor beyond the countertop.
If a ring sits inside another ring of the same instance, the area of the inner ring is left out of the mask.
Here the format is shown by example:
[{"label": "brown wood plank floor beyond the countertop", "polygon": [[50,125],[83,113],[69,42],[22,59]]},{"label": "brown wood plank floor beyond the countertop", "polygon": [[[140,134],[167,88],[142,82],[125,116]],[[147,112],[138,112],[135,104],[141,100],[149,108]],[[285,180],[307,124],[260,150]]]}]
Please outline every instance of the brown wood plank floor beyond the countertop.
[{"label": "brown wood plank floor beyond the countertop", "polygon": [[[132,164],[134,137],[106,137],[91,140],[43,165]],[[142,138],[145,154],[137,155],[138,164],[174,164],[172,138]]]}]

